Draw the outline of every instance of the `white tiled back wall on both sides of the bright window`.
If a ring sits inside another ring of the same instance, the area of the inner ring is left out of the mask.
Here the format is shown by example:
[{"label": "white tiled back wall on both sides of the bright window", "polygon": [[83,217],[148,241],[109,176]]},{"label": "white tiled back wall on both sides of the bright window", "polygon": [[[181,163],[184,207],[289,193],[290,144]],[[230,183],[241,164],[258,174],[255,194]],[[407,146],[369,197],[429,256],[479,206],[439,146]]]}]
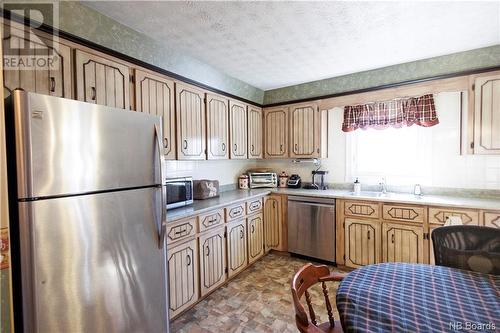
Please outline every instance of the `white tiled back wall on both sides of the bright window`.
[{"label": "white tiled back wall on both sides of the bright window", "polygon": [[[447,92],[435,95],[439,124],[429,128],[430,142],[426,164],[430,164],[430,174],[422,185],[448,188],[496,189],[500,190],[500,156],[460,155],[460,93]],[[327,182],[352,182],[356,175],[350,175],[346,167],[346,143],[349,133],[341,131],[342,108],[329,111],[328,158],[322,160],[322,169],[328,170]],[[298,173],[309,181],[312,164],[292,164],[285,161],[262,161],[259,166],[270,166],[275,171]],[[370,184],[370,182],[364,183]],[[391,184],[391,177],[387,175]],[[371,184],[376,184],[373,181]]]}]

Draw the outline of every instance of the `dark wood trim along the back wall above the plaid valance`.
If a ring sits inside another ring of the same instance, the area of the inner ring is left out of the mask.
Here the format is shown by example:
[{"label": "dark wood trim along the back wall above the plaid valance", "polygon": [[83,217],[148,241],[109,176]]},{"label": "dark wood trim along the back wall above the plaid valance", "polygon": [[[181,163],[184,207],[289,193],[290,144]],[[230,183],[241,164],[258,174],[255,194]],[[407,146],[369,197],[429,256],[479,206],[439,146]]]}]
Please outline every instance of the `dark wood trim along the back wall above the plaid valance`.
[{"label": "dark wood trim along the back wall above the plaid valance", "polygon": [[277,102],[277,103],[265,104],[264,107],[268,108],[268,107],[274,107],[274,106],[280,106],[280,105],[287,105],[287,104],[294,104],[294,103],[311,102],[311,101],[316,101],[316,100],[320,100],[320,99],[341,97],[341,96],[347,96],[347,95],[355,95],[355,94],[361,94],[361,93],[366,93],[366,92],[371,92],[371,91],[384,90],[384,89],[389,89],[389,88],[396,88],[396,87],[401,87],[401,86],[406,86],[406,85],[411,85],[411,84],[416,84],[416,83],[423,83],[423,82],[429,82],[429,81],[435,81],[435,80],[450,79],[450,78],[454,78],[454,77],[458,77],[458,76],[467,76],[467,75],[473,75],[473,74],[479,74],[479,73],[485,73],[485,72],[492,72],[492,71],[498,71],[498,70],[500,70],[500,66],[485,67],[485,68],[479,68],[479,69],[472,69],[472,70],[468,70],[468,71],[462,71],[462,72],[455,72],[455,73],[450,73],[450,74],[443,74],[443,75],[431,76],[431,77],[427,77],[427,78],[423,78],[423,79],[407,80],[407,81],[401,81],[401,82],[397,82],[397,83],[384,84],[384,85],[381,85],[381,86],[376,86],[376,87],[371,87],[371,88],[351,90],[351,91],[345,91],[345,92],[340,92],[340,93],[335,93],[335,94],[329,94],[329,95],[321,95],[321,96],[316,96],[316,97],[301,98],[301,99],[296,99],[296,100],[292,100],[292,101],[285,101],[285,102]]}]

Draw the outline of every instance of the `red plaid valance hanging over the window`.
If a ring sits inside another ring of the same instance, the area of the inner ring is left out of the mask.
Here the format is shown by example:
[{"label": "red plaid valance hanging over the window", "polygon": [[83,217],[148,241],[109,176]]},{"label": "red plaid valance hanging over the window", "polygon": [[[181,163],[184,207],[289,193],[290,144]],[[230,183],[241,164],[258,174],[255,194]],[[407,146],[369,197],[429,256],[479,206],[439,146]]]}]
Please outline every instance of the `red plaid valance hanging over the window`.
[{"label": "red plaid valance hanging over the window", "polygon": [[403,127],[417,124],[430,127],[439,123],[432,94],[420,97],[398,98],[344,107],[342,131],[355,129]]}]

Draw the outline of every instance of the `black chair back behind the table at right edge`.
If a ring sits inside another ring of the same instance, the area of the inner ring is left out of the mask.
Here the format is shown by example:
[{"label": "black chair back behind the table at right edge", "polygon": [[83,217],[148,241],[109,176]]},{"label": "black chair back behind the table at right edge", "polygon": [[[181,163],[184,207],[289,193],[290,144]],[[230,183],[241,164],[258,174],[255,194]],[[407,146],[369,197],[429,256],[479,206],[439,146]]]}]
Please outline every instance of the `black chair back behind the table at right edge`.
[{"label": "black chair back behind the table at right edge", "polygon": [[455,225],[432,232],[436,265],[500,275],[500,229]]}]

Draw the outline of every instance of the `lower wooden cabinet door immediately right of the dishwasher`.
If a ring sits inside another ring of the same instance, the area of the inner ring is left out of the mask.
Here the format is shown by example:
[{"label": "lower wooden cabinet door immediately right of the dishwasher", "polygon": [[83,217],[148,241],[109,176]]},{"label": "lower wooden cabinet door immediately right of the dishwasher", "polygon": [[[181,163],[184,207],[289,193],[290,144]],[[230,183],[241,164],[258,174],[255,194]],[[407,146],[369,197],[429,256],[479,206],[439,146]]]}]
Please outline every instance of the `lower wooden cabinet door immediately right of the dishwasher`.
[{"label": "lower wooden cabinet door immediately right of the dishwasher", "polygon": [[345,264],[361,267],[380,262],[380,222],[345,219]]}]

